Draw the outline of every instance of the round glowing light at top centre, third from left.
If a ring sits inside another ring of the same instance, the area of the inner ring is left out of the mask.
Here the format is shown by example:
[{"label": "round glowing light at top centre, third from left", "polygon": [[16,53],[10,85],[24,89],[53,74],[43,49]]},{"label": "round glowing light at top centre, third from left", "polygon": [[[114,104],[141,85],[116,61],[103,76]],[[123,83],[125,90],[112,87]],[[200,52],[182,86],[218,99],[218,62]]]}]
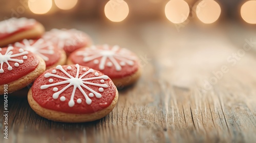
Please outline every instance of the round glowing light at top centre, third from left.
[{"label": "round glowing light at top centre, third from left", "polygon": [[105,15],[111,21],[120,22],[129,14],[129,7],[126,2],[122,0],[110,0],[105,5]]}]

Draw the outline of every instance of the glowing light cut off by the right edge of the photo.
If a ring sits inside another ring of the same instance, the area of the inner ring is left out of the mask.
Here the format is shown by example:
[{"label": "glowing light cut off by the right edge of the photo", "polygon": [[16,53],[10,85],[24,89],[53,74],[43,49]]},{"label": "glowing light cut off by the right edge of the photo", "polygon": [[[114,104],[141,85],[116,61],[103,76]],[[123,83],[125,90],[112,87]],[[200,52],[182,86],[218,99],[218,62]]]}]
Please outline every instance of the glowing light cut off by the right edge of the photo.
[{"label": "glowing light cut off by the right edge of the photo", "polygon": [[256,1],[248,1],[241,7],[241,16],[247,22],[256,24]]}]

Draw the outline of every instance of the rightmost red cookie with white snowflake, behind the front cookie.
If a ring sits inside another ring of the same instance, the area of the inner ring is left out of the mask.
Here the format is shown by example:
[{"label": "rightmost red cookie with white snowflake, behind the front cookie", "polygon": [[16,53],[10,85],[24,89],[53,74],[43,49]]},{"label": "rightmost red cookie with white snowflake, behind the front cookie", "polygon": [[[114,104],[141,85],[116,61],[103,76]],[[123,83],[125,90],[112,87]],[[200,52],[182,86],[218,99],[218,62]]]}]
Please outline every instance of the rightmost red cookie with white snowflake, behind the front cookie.
[{"label": "rightmost red cookie with white snowflake, behind the front cookie", "polygon": [[68,64],[80,64],[108,75],[117,87],[130,85],[140,77],[138,58],[118,45],[98,45],[79,49],[72,53]]}]

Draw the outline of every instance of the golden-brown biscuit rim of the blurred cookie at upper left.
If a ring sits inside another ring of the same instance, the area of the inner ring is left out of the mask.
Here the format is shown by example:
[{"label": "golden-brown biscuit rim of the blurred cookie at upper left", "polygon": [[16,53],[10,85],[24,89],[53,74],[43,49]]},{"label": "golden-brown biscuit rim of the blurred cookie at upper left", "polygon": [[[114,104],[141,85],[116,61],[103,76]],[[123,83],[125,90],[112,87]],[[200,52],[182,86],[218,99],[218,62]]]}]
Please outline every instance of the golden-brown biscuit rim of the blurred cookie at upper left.
[{"label": "golden-brown biscuit rim of the blurred cookie at upper left", "polygon": [[0,40],[0,47],[7,46],[8,44],[18,42],[23,39],[35,39],[41,37],[45,33],[44,26],[41,23],[37,23],[33,29],[18,32],[10,37]]}]

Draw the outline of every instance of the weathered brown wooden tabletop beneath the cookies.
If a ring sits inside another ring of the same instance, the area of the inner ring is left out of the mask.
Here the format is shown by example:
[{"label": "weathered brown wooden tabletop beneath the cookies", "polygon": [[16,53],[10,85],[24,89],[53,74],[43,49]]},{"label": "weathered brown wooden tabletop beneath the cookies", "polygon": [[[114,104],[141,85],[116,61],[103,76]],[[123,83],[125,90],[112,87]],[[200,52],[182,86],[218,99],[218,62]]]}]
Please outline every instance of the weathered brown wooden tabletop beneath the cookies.
[{"label": "weathered brown wooden tabletop beneath the cookies", "polygon": [[[48,30],[76,28],[95,43],[129,48],[141,59],[142,77],[119,90],[109,115],[91,123],[51,122],[38,116],[26,98],[9,97],[9,139],[3,138],[2,97],[0,142],[256,141],[256,46],[236,64],[227,61],[245,39],[256,41],[253,28],[233,22],[212,27],[190,22],[179,30],[170,22],[44,24]],[[205,86],[222,66],[228,71]]]}]

